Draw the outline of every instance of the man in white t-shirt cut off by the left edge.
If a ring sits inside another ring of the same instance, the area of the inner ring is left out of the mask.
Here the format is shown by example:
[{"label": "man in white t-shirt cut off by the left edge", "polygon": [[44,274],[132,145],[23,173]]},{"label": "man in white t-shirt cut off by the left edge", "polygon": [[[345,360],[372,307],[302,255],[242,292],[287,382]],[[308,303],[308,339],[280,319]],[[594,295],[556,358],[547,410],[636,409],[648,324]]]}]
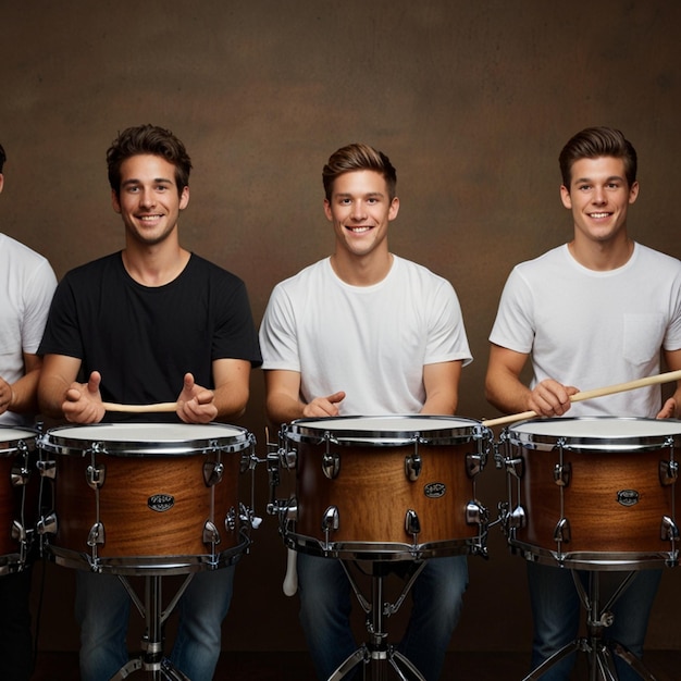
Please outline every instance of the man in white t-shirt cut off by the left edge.
[{"label": "man in white t-shirt cut off by the left edge", "polygon": [[[7,160],[0,146],[0,193]],[[38,376],[36,355],[57,277],[50,263],[23,244],[0,234],[0,424],[35,424]],[[36,473],[37,474],[37,473]],[[9,485],[10,481],[3,481]],[[9,528],[1,529],[9,532]],[[33,671],[28,594],[30,565],[0,577],[0,679],[26,681]]]}]

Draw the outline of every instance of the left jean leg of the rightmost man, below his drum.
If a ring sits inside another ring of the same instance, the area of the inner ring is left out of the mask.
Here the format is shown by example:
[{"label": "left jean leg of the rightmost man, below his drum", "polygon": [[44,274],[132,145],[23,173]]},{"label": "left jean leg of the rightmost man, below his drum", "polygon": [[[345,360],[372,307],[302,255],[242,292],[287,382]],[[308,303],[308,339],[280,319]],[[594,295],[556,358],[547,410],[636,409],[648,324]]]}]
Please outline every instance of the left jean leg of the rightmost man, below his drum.
[{"label": "left jean leg of the rightmost man, below his drum", "polygon": [[[572,572],[565,568],[528,561],[528,585],[532,607],[532,669],[577,639],[581,603]],[[568,681],[574,654],[552,667],[542,681]]]}]

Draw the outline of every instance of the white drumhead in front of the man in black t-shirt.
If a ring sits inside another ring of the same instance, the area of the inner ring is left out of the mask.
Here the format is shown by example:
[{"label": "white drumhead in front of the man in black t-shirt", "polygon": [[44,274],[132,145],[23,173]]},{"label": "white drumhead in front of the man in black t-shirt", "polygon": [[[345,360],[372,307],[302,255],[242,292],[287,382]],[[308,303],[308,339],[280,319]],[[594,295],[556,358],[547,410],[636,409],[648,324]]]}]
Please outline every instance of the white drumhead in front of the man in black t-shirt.
[{"label": "white drumhead in front of the man in black t-shirt", "polygon": [[48,431],[48,437],[88,442],[183,443],[236,437],[243,432],[243,429],[221,423],[97,423],[57,428]]}]

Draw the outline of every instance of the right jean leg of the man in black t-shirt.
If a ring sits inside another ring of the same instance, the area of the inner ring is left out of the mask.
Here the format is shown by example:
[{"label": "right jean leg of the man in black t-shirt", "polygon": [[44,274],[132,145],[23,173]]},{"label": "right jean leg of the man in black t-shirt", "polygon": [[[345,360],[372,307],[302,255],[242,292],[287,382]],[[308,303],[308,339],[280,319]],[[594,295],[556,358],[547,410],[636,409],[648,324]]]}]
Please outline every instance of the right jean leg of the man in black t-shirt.
[{"label": "right jean leg of the man in black t-shirt", "polygon": [[179,623],[171,663],[191,681],[211,681],[222,646],[222,621],[230,609],[234,565],[197,572],[177,604]]}]

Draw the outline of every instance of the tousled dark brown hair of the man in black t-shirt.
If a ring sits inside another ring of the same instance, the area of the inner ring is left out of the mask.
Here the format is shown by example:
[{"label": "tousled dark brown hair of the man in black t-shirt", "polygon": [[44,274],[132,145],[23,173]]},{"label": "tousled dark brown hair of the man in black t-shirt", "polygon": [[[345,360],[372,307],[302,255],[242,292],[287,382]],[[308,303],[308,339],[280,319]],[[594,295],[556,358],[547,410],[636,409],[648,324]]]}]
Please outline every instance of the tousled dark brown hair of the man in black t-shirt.
[{"label": "tousled dark brown hair of the man in black t-shirt", "polygon": [[158,125],[138,125],[128,127],[113,140],[107,151],[109,184],[116,196],[121,194],[121,165],[134,156],[149,153],[165,159],[175,166],[177,194],[189,185],[191,159],[185,146],[164,127]]}]

